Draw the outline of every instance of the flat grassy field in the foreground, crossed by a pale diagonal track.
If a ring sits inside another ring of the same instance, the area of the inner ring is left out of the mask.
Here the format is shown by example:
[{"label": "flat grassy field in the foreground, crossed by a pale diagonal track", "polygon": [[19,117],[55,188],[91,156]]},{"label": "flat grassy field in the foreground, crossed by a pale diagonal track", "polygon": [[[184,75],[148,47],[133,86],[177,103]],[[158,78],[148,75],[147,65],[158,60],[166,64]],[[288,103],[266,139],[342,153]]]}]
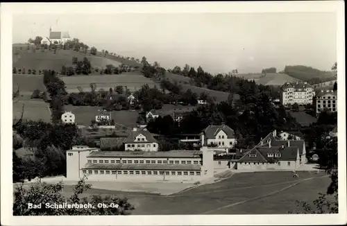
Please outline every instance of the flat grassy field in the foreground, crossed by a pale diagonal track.
[{"label": "flat grassy field in the foreground, crossed by a pale diagonal track", "polygon": [[[312,202],[330,183],[323,173],[299,175],[294,178],[291,172],[236,173],[221,182],[167,196],[101,189],[91,189],[87,194],[127,197],[135,205],[133,215],[287,214],[296,209],[296,200]],[[71,192],[72,186],[65,186],[65,193]]]}]

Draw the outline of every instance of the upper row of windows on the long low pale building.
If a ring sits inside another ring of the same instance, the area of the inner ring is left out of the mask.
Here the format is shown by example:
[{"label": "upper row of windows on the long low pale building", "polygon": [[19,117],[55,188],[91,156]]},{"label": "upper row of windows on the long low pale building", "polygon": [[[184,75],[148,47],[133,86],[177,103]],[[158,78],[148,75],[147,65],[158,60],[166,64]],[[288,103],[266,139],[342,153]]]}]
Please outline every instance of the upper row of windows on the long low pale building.
[{"label": "upper row of windows on the long low pale building", "polygon": [[[69,153],[69,154],[72,154],[72,153]],[[170,160],[170,161],[167,161],[167,160],[115,160],[115,159],[112,159],[112,160],[102,160],[102,159],[99,159],[99,161],[97,159],[87,159],[87,163],[122,163],[122,164],[202,164],[202,161],[185,161],[185,160]]]}]

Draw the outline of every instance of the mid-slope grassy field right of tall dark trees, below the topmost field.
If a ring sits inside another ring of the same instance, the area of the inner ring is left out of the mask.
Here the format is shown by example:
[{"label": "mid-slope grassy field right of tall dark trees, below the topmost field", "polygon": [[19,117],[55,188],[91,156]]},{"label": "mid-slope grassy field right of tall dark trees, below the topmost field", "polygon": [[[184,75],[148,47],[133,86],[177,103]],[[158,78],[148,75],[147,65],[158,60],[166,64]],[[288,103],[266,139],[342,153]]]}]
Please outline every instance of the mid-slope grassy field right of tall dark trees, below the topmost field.
[{"label": "mid-slope grassy field right of tall dark trees, below the topmost field", "polygon": [[114,89],[118,85],[128,87],[130,92],[141,89],[142,85],[148,84],[153,87],[155,82],[142,76],[138,72],[127,72],[119,75],[90,75],[90,76],[69,76],[61,77],[67,87],[67,92],[78,92],[77,87],[82,87],[84,91],[90,91],[90,83],[96,83],[96,89]]}]

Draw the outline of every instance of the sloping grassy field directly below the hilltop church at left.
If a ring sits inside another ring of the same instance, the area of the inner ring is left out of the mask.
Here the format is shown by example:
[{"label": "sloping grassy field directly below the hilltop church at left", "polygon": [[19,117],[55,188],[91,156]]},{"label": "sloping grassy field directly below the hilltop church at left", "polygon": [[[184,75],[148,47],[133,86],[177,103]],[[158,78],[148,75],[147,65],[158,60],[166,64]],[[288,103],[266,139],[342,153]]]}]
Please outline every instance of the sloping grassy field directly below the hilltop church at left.
[{"label": "sloping grassy field directly below the hilltop church at left", "polygon": [[41,52],[37,50],[35,53],[33,51],[28,51],[26,49],[22,51],[13,51],[13,67],[17,69],[22,69],[23,67],[28,69],[35,69],[36,71],[43,69],[51,69],[54,71],[59,71],[62,69],[62,66],[72,66],[72,57],[76,56],[78,60],[83,60],[87,58],[90,60],[92,67],[97,67],[99,69],[105,68],[107,64],[113,64],[117,67],[120,62],[116,60],[111,60],[108,58],[103,58],[100,56],[78,53],[71,50],[58,50],[56,53],[53,51],[45,50]]}]

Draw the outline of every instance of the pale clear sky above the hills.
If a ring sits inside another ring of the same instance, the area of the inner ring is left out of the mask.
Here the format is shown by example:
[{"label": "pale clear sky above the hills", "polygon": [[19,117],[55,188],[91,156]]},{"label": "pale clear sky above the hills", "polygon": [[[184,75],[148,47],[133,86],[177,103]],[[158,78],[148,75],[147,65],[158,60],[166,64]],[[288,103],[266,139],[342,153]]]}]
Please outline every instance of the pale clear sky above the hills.
[{"label": "pale clear sky above the hills", "polygon": [[210,73],[260,73],[306,65],[330,70],[337,61],[334,12],[126,13],[14,15],[12,42],[68,31],[98,51],[108,50],[162,67],[203,67]]}]

